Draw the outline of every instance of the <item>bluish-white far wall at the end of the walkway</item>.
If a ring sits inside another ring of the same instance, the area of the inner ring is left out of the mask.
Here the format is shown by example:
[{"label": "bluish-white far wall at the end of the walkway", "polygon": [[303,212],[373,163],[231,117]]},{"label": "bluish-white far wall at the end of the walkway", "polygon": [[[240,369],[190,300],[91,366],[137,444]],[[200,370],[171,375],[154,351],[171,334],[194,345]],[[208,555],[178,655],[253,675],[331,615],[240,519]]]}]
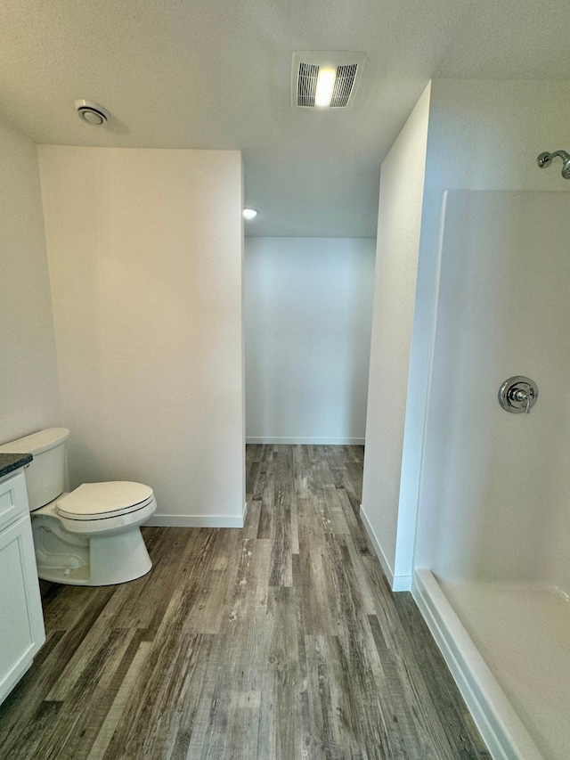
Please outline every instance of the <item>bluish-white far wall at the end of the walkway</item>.
[{"label": "bluish-white far wall at the end of the walkway", "polygon": [[247,439],[362,444],[375,244],[247,238]]}]

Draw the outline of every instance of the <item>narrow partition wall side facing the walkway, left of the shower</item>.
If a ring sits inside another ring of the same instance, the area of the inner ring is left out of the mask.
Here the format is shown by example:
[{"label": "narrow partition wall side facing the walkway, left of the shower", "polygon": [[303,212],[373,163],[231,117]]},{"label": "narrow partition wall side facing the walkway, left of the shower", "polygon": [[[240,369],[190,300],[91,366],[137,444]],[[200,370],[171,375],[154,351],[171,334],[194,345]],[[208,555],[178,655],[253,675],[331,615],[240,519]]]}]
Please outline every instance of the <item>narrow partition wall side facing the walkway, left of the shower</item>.
[{"label": "narrow partition wall side facing the walkway, left of the shower", "polygon": [[429,86],[382,163],[362,519],[389,582],[410,584],[415,503],[401,485]]}]

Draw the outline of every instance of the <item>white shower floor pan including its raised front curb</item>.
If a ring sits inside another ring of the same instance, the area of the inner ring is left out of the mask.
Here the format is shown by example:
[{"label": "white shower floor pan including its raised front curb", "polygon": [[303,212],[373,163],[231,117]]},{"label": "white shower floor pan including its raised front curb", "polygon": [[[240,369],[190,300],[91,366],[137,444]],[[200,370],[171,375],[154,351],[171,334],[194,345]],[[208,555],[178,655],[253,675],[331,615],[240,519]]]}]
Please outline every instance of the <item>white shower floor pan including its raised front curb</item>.
[{"label": "white shower floor pan including its raised front curb", "polygon": [[493,758],[570,757],[570,601],[539,584],[437,581],[413,594]]}]

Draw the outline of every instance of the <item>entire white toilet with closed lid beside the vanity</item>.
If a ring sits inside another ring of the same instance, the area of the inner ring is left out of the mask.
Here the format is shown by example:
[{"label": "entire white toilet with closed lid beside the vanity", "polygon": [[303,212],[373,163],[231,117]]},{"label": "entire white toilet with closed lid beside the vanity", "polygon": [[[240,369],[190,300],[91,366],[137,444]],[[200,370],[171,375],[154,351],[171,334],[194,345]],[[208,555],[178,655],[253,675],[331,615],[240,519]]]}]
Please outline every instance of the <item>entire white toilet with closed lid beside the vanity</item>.
[{"label": "entire white toilet with closed lid beside the vanity", "polygon": [[33,454],[24,472],[37,575],[72,585],[122,584],[152,567],[141,535],[157,503],[149,486],[129,481],[84,483],[64,492],[69,430],[50,428],[0,445]]}]

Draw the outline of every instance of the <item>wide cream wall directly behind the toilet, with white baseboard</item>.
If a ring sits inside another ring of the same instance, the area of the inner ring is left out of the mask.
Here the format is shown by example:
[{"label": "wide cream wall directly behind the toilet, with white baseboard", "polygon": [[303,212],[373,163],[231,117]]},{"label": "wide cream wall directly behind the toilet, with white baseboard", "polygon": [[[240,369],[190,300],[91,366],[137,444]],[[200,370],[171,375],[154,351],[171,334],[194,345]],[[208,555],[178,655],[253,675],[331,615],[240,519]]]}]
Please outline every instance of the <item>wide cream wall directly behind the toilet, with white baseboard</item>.
[{"label": "wide cream wall directly behind the toilet, with white baseboard", "polygon": [[139,480],[155,522],[240,525],[240,153],[38,151],[71,486]]}]

